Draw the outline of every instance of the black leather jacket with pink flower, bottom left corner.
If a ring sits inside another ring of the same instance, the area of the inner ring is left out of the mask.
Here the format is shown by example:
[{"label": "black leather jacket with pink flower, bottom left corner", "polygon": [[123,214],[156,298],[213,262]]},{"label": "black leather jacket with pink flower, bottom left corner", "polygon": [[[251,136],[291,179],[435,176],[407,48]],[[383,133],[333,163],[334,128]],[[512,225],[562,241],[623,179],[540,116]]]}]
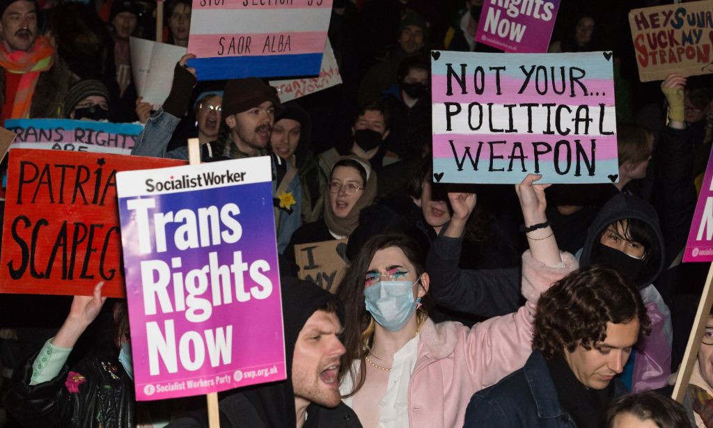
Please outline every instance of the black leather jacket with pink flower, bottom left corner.
[{"label": "black leather jacket with pink flower, bottom left corner", "polygon": [[132,428],[134,384],[115,357],[86,357],[72,367],[86,378],[78,392],[65,385],[70,373],[65,365],[52,380],[30,385],[32,355],[15,371],[11,390],[4,399],[7,411],[23,427]]}]

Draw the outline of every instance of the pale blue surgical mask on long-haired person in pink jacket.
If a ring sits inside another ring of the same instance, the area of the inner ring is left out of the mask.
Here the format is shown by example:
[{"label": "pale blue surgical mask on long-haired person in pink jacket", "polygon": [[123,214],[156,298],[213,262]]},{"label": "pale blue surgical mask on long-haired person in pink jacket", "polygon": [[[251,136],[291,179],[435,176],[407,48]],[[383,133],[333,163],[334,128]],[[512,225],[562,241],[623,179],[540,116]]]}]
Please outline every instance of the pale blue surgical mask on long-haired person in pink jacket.
[{"label": "pale blue surgical mask on long-haired person in pink jacket", "polygon": [[380,281],[364,288],[364,300],[374,320],[389,331],[404,328],[421,302],[421,298],[414,300],[411,281]]}]

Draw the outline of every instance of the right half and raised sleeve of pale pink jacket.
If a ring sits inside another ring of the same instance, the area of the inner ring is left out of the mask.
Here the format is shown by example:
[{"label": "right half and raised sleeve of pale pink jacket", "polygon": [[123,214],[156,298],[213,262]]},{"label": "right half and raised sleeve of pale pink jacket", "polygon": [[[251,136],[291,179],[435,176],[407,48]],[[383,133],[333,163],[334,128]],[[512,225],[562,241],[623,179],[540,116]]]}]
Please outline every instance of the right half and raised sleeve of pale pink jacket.
[{"label": "right half and raised sleeve of pale pink jacket", "polygon": [[409,384],[411,428],[462,427],[471,395],[525,365],[532,352],[540,294],[578,268],[571,254],[562,253],[562,260],[560,266],[550,268],[525,251],[522,293],[528,302],[515,313],[473,328],[426,320]]}]

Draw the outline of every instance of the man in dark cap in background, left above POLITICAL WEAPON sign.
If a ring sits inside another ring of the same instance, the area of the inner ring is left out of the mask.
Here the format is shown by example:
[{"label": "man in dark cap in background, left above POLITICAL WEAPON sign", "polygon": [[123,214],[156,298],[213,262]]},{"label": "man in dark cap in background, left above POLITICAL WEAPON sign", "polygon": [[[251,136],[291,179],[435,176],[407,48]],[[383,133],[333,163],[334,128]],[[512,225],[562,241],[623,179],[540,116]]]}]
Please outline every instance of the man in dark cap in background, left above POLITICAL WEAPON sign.
[{"label": "man in dark cap in background, left above POLITICAL WEAPON sign", "polygon": [[426,33],[428,24],[416,12],[409,11],[399,23],[398,44],[394,47],[389,59],[376,63],[364,75],[359,86],[359,105],[374,103],[384,90],[396,83],[396,73],[399,64],[405,58],[414,55],[425,55]]}]

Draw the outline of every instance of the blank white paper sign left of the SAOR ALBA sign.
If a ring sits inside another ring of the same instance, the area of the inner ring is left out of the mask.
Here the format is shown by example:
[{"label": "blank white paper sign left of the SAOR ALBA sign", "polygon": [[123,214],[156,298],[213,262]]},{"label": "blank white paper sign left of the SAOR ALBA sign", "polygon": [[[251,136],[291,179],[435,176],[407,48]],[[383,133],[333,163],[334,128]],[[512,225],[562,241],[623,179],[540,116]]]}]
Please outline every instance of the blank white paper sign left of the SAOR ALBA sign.
[{"label": "blank white paper sign left of the SAOR ALBA sign", "polygon": [[144,103],[163,105],[171,91],[173,69],[186,48],[132,37],[131,71],[136,92]]}]

